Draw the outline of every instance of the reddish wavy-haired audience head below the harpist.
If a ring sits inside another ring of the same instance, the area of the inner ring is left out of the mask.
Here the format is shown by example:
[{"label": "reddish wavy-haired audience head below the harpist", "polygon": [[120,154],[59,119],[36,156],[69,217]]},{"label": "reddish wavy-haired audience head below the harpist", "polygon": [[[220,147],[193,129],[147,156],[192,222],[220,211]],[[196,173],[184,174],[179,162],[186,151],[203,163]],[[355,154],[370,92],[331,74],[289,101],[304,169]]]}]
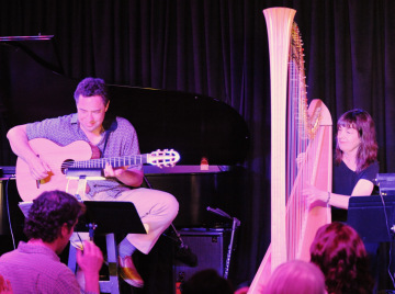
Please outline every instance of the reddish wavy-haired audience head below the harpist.
[{"label": "reddish wavy-haired audience head below the harpist", "polygon": [[321,226],[311,246],[311,261],[325,275],[328,294],[372,293],[369,257],[362,239],[350,226],[334,222]]}]

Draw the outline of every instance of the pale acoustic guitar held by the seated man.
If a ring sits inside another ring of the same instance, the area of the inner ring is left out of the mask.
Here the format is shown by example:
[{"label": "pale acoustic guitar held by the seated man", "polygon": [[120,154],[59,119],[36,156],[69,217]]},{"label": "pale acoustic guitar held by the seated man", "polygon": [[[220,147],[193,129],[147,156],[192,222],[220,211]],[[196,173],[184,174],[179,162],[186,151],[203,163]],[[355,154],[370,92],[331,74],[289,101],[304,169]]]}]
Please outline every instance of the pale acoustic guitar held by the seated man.
[{"label": "pale acoustic guitar held by the seated man", "polygon": [[59,146],[56,143],[35,138],[29,142],[32,149],[47,162],[52,172],[47,178],[36,181],[29,169],[27,163],[18,158],[16,160],[16,189],[23,201],[33,201],[44,191],[60,190],[77,191],[78,180],[67,178],[67,172],[74,169],[103,169],[105,163],[113,168],[150,163],[157,167],[172,167],[180,160],[180,155],[173,149],[156,150],[150,154],[98,158],[98,147],[83,140],[74,142],[67,146]]}]

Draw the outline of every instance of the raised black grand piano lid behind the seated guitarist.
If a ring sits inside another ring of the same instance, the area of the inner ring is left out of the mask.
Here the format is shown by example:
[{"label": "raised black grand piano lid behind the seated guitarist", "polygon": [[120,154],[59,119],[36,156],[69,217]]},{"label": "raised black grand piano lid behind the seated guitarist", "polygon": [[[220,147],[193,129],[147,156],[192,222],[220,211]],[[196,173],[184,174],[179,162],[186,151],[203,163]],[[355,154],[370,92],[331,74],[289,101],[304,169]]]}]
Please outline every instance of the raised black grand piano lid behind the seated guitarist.
[{"label": "raised black grand piano lid behind the seated guitarist", "polygon": [[[72,94],[78,81],[59,75],[57,57],[52,37],[0,39],[0,102],[12,118],[9,127],[76,111]],[[109,114],[131,121],[142,152],[172,148],[181,155],[179,165],[200,165],[206,157],[210,165],[233,166],[246,158],[247,124],[224,102],[116,84],[109,91]]]}]

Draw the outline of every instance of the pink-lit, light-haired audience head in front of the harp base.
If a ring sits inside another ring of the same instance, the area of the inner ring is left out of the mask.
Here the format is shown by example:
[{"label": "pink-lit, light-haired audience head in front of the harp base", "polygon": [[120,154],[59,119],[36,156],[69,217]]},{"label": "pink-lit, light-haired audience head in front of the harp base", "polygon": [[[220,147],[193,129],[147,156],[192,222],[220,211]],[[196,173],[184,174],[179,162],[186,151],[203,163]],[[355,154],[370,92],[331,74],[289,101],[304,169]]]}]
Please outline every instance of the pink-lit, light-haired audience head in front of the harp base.
[{"label": "pink-lit, light-haired audience head in front of the harp base", "polygon": [[316,264],[292,260],[280,264],[269,279],[264,294],[324,294],[325,278]]}]

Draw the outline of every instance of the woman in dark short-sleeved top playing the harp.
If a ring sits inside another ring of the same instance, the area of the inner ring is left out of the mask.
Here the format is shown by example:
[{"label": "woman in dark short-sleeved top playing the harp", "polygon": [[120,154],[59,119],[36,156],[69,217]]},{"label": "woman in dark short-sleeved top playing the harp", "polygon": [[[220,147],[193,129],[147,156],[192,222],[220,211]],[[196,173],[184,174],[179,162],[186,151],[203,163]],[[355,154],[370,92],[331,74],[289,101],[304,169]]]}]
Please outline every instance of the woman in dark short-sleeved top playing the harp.
[{"label": "woman in dark short-sleeved top playing the harp", "polygon": [[374,122],[366,111],[350,110],[337,122],[334,192],[307,185],[303,194],[309,202],[324,201],[335,206],[332,220],[346,222],[349,197],[372,194],[377,173]]}]

